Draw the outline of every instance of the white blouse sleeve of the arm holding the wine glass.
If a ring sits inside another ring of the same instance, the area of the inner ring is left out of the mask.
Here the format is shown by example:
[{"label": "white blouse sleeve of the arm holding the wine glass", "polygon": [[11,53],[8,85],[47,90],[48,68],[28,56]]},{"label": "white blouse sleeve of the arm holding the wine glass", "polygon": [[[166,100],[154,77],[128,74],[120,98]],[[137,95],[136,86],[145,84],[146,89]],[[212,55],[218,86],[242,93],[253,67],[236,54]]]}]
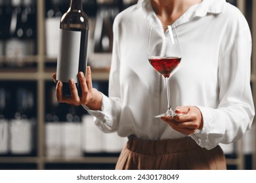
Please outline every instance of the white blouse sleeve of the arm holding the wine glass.
[{"label": "white blouse sleeve of the arm holding the wine glass", "polygon": [[244,135],[255,114],[250,88],[251,34],[249,27],[239,31],[219,57],[219,107],[199,107],[203,129],[192,138],[211,149],[234,142]]}]

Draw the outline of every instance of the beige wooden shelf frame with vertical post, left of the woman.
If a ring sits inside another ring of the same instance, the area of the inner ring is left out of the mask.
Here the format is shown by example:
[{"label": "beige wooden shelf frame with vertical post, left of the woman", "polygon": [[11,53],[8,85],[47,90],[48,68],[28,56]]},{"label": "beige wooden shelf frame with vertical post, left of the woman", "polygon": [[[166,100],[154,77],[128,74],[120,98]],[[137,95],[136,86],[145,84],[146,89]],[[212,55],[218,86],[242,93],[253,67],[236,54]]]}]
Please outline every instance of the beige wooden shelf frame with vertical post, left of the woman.
[{"label": "beige wooden shelf frame with vertical post, left of the woman", "polygon": [[[100,58],[100,55],[96,54]],[[111,54],[102,54],[111,58]],[[36,156],[1,156],[1,163],[35,163],[37,169],[45,169],[46,163],[116,163],[117,157],[81,157],[81,158],[48,158],[45,157],[45,82],[53,80],[56,72],[56,58],[45,56],[45,1],[37,0],[37,55],[22,58],[7,58],[0,56],[0,82],[4,80],[37,82],[37,134]],[[11,64],[15,67],[11,67]],[[53,65],[48,67],[47,64]],[[108,69],[93,69],[93,80],[108,80]]]}]

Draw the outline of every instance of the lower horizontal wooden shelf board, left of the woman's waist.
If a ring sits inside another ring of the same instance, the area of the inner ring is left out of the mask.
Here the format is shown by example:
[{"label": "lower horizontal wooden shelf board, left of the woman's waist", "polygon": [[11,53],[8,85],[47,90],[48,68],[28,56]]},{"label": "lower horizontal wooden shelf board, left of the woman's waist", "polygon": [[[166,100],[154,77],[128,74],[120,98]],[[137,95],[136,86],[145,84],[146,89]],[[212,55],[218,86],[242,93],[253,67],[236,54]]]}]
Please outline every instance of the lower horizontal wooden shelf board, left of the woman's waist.
[{"label": "lower horizontal wooden shelf board, left of the woman's waist", "polygon": [[38,157],[0,157],[0,163],[116,163],[118,157],[78,157],[78,158],[38,158]]}]

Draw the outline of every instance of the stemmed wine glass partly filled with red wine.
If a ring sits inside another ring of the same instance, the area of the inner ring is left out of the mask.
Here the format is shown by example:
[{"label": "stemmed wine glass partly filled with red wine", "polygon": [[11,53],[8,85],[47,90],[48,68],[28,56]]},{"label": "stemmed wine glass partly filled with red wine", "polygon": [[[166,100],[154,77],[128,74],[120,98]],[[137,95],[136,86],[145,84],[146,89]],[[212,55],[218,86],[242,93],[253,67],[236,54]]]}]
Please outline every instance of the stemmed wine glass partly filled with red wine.
[{"label": "stemmed wine glass partly filled with red wine", "polygon": [[162,116],[178,115],[171,110],[169,78],[171,73],[181,62],[181,45],[175,27],[171,25],[151,27],[148,40],[148,61],[165,78],[167,88],[167,111],[155,118]]}]

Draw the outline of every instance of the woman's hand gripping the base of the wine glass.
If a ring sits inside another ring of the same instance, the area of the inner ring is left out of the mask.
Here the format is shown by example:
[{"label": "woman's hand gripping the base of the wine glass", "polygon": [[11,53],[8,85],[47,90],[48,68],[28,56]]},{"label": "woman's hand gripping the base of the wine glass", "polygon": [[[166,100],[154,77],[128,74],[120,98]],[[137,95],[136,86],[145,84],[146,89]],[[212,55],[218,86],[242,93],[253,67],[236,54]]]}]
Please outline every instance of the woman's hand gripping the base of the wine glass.
[{"label": "woman's hand gripping the base of the wine glass", "polygon": [[184,135],[190,135],[197,129],[203,128],[203,118],[199,108],[182,106],[177,107],[175,112],[181,115],[173,116],[173,118],[164,116],[161,120]]}]

